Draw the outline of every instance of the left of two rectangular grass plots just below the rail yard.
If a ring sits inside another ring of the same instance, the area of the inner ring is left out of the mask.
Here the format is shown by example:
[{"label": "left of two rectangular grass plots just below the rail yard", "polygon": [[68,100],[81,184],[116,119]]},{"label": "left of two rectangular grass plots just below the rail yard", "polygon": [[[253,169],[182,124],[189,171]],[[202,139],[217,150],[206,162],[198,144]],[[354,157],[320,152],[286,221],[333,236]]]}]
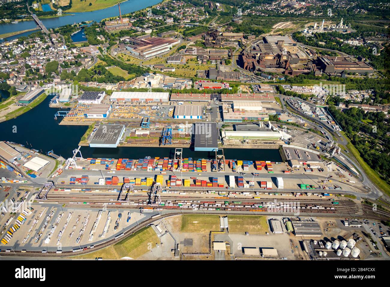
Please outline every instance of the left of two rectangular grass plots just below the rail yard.
[{"label": "left of two rectangular grass plots just below the rail yard", "polygon": [[181,219],[182,232],[210,232],[221,228],[218,215],[185,214]]}]

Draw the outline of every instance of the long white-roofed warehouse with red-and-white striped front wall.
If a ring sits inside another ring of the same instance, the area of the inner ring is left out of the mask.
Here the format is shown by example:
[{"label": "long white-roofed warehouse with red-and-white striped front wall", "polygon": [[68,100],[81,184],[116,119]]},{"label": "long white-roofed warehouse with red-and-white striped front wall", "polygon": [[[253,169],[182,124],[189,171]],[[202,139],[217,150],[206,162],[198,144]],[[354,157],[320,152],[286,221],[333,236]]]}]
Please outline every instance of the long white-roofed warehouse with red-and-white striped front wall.
[{"label": "long white-roofed warehouse with red-and-white striped front wall", "polygon": [[169,93],[113,92],[110,101],[115,102],[168,102]]}]

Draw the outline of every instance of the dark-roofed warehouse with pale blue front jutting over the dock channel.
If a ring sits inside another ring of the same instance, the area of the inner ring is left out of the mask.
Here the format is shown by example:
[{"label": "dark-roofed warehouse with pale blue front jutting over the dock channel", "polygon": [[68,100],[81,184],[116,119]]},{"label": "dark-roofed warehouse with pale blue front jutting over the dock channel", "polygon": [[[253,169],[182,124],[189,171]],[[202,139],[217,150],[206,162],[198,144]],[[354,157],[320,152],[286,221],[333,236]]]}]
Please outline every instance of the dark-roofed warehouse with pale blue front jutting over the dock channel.
[{"label": "dark-roofed warehouse with pale blue front jutting over the dock channel", "polygon": [[195,123],[195,152],[215,152],[218,149],[216,123]]}]

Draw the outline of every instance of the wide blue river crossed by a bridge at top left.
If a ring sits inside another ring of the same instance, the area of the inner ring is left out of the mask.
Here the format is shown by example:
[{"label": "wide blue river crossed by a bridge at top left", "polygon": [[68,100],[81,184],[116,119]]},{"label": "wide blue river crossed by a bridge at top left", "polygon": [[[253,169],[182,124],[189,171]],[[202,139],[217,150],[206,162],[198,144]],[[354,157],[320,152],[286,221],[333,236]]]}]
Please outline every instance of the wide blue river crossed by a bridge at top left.
[{"label": "wide blue river crossed by a bridge at top left", "polygon": [[[145,9],[146,7],[152,5],[156,5],[160,2],[161,0],[144,0],[141,2],[138,0],[127,0],[121,3],[121,12],[122,14],[128,14],[134,11]],[[108,7],[106,9],[101,9],[101,10],[96,10],[91,12],[71,13],[66,16],[54,17],[54,18],[40,18],[40,20],[42,21],[43,25],[46,26],[47,29],[50,29],[50,28],[58,28],[68,24],[81,23],[82,21],[100,22],[105,18],[116,17],[116,16],[119,16],[117,5]],[[35,23],[34,20],[18,22],[17,24],[3,23],[0,24],[0,30],[3,31],[2,33],[9,33],[9,32],[32,29],[35,28],[36,26],[37,23]],[[32,32],[36,32],[36,31],[32,31]],[[21,36],[27,36],[32,32],[31,31],[25,32],[23,34],[11,36],[5,39],[12,40]]]}]

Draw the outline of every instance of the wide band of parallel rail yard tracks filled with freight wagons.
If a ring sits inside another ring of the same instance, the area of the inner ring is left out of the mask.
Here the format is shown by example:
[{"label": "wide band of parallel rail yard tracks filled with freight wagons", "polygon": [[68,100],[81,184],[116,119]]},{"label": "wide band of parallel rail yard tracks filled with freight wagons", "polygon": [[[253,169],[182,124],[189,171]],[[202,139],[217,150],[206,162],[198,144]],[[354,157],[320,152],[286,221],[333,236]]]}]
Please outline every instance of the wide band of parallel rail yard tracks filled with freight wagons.
[{"label": "wide band of parallel rail yard tracks filled with freight wagons", "polygon": [[351,215],[358,210],[356,203],[349,200],[339,200],[335,205],[328,199],[315,198],[229,198],[229,197],[193,197],[193,196],[162,196],[161,203],[151,201],[145,195],[129,195],[128,201],[117,200],[114,194],[57,194],[52,193],[48,201],[65,203],[72,207],[89,206],[101,208],[103,206],[129,209],[155,210],[216,210],[216,211],[245,211],[245,212],[296,212],[324,213]]}]

